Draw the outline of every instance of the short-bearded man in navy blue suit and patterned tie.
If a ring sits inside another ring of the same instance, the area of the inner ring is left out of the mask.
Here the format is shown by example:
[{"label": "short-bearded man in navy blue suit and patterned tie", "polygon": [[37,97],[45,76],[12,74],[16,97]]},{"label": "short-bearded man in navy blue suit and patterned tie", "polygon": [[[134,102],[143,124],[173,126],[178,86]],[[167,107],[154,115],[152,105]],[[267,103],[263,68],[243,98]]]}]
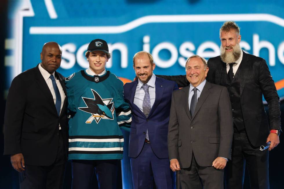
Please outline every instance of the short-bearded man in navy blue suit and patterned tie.
[{"label": "short-bearded man in navy blue suit and patterned tie", "polygon": [[124,98],[132,110],[129,157],[133,186],[174,188],[168,156],[167,137],[172,92],[177,84],[153,74],[155,64],[150,53],[133,57],[137,80],[124,85]]}]

